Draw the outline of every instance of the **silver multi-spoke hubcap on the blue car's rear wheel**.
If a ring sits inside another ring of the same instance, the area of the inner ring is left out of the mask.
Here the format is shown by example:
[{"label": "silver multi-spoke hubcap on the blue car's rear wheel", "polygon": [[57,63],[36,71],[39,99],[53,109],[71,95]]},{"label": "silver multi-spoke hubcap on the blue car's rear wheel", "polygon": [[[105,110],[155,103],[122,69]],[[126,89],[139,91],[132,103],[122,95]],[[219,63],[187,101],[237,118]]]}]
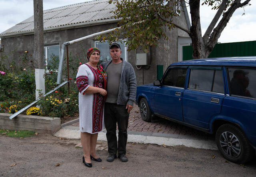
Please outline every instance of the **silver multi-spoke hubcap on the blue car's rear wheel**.
[{"label": "silver multi-spoke hubcap on the blue car's rear wheel", "polygon": [[220,146],[230,157],[238,157],[241,153],[241,144],[238,137],[229,131],[225,131],[220,135]]}]

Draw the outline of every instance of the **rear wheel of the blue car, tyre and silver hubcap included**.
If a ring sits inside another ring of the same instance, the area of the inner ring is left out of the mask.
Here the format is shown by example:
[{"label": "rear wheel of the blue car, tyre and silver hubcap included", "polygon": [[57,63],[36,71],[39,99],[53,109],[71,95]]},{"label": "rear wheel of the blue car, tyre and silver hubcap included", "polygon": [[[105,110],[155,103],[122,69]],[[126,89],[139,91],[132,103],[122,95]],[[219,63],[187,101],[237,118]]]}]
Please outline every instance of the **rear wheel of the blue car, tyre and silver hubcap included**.
[{"label": "rear wheel of the blue car, tyre and silver hubcap included", "polygon": [[244,132],[232,124],[221,125],[215,136],[220,153],[234,163],[246,163],[254,157],[254,149]]}]

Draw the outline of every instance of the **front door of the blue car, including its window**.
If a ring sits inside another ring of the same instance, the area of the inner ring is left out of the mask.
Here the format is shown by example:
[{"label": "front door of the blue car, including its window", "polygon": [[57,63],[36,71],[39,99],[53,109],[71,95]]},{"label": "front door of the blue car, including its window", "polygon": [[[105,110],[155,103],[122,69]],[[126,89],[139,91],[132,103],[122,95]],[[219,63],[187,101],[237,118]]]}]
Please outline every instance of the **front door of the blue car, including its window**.
[{"label": "front door of the blue car, including its window", "polygon": [[187,66],[171,66],[166,70],[161,86],[155,89],[156,113],[183,121],[182,93],[184,91]]}]

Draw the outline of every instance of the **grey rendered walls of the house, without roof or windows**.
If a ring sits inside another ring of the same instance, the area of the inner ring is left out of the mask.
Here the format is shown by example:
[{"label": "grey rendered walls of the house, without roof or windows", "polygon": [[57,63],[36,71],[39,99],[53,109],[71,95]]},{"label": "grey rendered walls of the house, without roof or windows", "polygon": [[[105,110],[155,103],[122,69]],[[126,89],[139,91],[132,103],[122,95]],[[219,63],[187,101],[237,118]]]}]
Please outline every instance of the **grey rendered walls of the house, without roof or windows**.
[{"label": "grey rendered walls of the house, without roof or windows", "polygon": [[[179,24],[180,26],[188,29],[184,12],[182,10],[180,16],[173,17],[173,21],[176,24]],[[115,27],[116,23],[112,23],[83,28],[66,29],[55,32],[46,32],[44,33],[44,44],[60,44],[61,47],[61,44],[64,42]],[[163,69],[165,71],[171,63],[178,62],[178,36],[188,37],[188,34],[178,28],[174,28],[172,30],[168,30],[168,28],[166,28],[166,34],[167,36],[169,36],[169,39],[160,39],[158,47],[151,48],[150,52],[148,52],[148,58],[149,60],[151,60],[150,66],[143,66],[140,70],[138,70],[135,66],[134,61],[135,51],[127,52],[127,60],[134,67],[138,86],[151,83],[157,79],[157,65],[163,65]],[[28,50],[29,54],[33,54],[34,35],[31,34],[26,36],[2,38],[2,44],[4,45],[4,52],[1,52],[0,54],[8,54],[10,58],[9,61],[6,61],[7,66],[13,60],[16,62],[16,64],[18,64],[17,62],[20,56],[19,52],[24,52],[25,50]],[[80,62],[84,63],[87,62],[86,52],[88,48],[92,46],[94,46],[93,38],[68,46],[68,51],[72,53],[71,56],[81,58]],[[136,53],[143,53],[142,48],[138,49]],[[66,56],[66,54],[64,56]],[[66,60],[64,62],[66,62]],[[77,64],[77,67],[78,65],[79,64]]]}]

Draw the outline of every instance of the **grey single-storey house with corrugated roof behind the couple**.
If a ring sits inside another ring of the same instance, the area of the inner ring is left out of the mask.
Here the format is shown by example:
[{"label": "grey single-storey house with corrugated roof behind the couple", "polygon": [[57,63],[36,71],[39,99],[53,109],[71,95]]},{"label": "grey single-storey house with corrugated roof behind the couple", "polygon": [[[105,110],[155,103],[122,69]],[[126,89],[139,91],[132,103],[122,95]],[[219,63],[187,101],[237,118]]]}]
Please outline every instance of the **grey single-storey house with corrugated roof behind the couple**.
[{"label": "grey single-storey house with corrugated roof behind the couple", "polygon": [[[185,6],[184,6],[185,7]],[[49,10],[44,10],[44,54],[50,58],[52,54],[59,58],[60,46],[77,38],[81,38],[102,30],[116,28],[119,19],[114,18],[114,4],[108,0],[93,0],[71,4]],[[190,28],[188,12],[180,6],[180,15],[173,21],[183,28]],[[182,60],[182,46],[189,45],[191,39],[188,34],[178,28],[167,30],[170,40],[160,39],[159,48],[151,48],[146,54],[148,63],[146,66],[136,66],[135,56],[143,53],[142,50],[127,51],[127,47],[121,44],[122,58],[130,62],[134,67],[138,85],[153,82],[159,79],[163,71],[173,62]],[[34,47],[34,16],[16,24],[12,28],[0,34],[4,50],[0,54],[8,54],[10,58],[18,60],[19,53],[28,51],[33,54]],[[95,39],[88,39],[68,46],[68,51],[86,62],[84,52],[88,48],[97,47],[101,51],[101,60],[110,60],[107,42],[100,43]],[[12,52],[14,51],[14,52]],[[6,61],[9,64],[11,61]]]}]

